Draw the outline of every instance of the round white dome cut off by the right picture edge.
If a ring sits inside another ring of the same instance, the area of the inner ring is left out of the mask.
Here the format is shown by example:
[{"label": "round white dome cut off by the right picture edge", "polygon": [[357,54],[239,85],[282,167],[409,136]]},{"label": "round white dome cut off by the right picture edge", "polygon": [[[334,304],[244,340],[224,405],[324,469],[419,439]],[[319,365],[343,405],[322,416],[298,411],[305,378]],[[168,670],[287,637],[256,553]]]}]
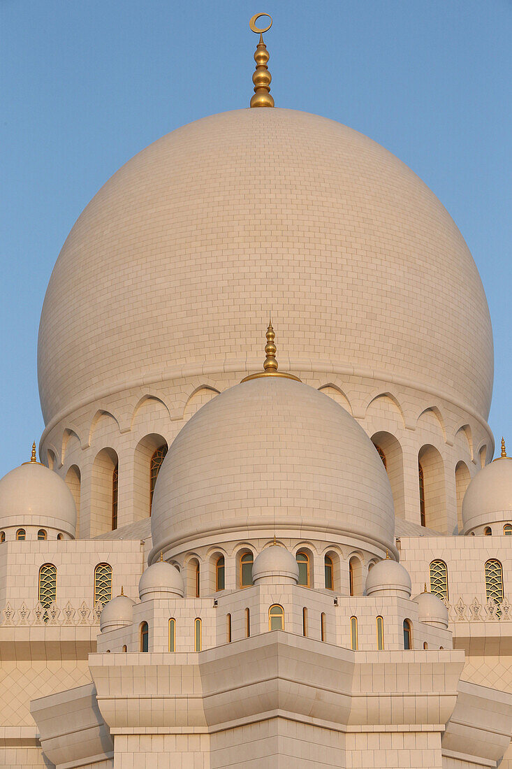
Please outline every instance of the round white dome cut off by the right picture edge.
[{"label": "round white dome cut off by the right picture edge", "polygon": [[463,533],[479,526],[512,522],[512,459],[499,458],[482,468],[462,501]]}]

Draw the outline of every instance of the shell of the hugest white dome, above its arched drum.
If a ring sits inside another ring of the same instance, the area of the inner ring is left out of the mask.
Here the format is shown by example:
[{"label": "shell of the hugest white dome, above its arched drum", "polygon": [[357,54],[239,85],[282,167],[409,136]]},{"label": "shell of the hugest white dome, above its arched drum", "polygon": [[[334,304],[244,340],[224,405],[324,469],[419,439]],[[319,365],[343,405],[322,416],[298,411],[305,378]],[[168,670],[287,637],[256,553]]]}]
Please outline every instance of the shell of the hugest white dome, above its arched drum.
[{"label": "shell of the hugest white dome, above its arched drum", "polygon": [[42,310],[46,423],[185,364],[247,371],[270,295],[287,368],[401,379],[487,418],[487,302],[435,195],[344,125],[244,109],[156,141],[78,218]]}]

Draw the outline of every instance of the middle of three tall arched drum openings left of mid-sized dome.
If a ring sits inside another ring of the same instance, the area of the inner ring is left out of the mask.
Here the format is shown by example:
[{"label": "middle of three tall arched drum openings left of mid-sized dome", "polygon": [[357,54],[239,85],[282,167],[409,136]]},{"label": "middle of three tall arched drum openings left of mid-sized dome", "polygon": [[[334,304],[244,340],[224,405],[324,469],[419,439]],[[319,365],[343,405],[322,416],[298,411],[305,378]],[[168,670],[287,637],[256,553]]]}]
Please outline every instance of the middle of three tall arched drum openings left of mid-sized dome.
[{"label": "middle of three tall arched drum openings left of mid-sized dome", "polygon": [[102,448],[91,473],[91,537],[118,528],[118,455]]}]

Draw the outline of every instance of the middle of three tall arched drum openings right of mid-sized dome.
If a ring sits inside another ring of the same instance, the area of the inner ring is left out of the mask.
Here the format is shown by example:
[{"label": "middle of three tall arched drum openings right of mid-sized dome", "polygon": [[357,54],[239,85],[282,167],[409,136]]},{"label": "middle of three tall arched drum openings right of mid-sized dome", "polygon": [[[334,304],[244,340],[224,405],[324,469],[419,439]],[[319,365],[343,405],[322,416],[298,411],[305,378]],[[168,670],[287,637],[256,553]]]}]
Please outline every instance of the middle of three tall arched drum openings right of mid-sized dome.
[{"label": "middle of three tall arched drum openings right of mid-sized dome", "polygon": [[426,445],[418,454],[421,525],[447,533],[446,491],[443,458],[437,448]]}]

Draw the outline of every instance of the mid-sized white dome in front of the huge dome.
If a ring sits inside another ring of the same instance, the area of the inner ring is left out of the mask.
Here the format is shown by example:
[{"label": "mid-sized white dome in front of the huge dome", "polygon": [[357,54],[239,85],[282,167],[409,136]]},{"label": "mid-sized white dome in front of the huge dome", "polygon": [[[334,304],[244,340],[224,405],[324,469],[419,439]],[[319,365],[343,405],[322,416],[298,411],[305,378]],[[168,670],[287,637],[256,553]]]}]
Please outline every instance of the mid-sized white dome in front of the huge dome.
[{"label": "mid-sized white dome in front of the huge dome", "polygon": [[327,395],[271,376],[217,395],[171,444],[149,561],[269,532],[395,551],[391,486],[363,428]]}]

